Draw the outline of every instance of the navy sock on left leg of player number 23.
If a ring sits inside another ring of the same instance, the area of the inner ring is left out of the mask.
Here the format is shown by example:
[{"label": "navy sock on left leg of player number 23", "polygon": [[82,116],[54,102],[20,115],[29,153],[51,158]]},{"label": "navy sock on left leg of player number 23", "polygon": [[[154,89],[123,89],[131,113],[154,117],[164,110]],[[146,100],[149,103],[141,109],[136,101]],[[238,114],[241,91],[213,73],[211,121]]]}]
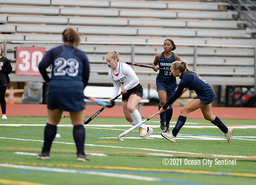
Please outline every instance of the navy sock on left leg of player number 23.
[{"label": "navy sock on left leg of player number 23", "polygon": [[43,145],[42,152],[50,151],[50,147],[52,146],[52,142],[54,140],[56,133],[57,133],[57,126],[50,125],[49,123],[47,123],[44,129],[44,145]]}]

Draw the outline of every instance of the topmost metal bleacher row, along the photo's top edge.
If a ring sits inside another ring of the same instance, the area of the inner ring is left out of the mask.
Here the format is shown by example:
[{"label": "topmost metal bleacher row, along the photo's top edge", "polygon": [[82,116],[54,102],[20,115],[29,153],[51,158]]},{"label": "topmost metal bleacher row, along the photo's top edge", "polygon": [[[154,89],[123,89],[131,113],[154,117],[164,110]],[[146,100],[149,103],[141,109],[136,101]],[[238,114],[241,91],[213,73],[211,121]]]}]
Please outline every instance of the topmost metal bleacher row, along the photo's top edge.
[{"label": "topmost metal bleacher row, along the photo's top edge", "polygon": [[[132,3],[131,3],[132,2]],[[80,6],[80,7],[104,7],[104,8],[132,8],[132,9],[188,9],[188,10],[218,10],[218,6],[228,5],[225,2],[209,2],[202,4],[200,2],[186,2],[184,6],[180,2],[155,2],[155,1],[112,1],[112,0],[1,0],[1,4],[9,5],[41,5],[41,6]]]}]

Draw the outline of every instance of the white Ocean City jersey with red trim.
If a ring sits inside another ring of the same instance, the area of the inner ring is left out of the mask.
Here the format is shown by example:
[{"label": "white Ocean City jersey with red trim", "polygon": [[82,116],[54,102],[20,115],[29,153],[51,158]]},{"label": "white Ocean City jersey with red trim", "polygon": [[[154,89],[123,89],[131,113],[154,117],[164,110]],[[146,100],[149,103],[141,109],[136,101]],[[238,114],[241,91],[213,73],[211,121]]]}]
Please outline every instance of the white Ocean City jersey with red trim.
[{"label": "white Ocean City jersey with red trim", "polygon": [[112,98],[117,96],[119,88],[129,90],[139,84],[139,78],[132,67],[123,62],[118,62],[116,69],[110,69],[108,76],[114,85]]}]

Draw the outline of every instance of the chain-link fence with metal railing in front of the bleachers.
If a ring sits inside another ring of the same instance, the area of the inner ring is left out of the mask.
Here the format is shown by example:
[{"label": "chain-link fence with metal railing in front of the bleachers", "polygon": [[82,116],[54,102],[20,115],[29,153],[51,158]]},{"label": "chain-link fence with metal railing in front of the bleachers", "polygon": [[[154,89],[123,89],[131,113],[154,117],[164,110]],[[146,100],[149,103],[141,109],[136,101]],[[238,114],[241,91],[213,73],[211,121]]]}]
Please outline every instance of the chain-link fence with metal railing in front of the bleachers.
[{"label": "chain-link fence with metal railing in front of the bleachers", "polygon": [[[16,47],[45,47],[46,51],[62,42],[56,41],[1,41],[4,56],[12,61],[12,82],[37,81],[39,77],[16,77]],[[238,43],[239,44],[239,43]],[[188,62],[210,85],[256,86],[256,46],[176,43],[175,54]],[[164,51],[162,43],[81,42],[79,49],[86,52],[91,63],[89,83],[111,83],[107,77],[106,54],[117,50],[121,62],[152,65],[155,55]],[[134,67],[142,83],[155,84],[156,74],[147,68]],[[179,79],[177,79],[179,81]]]}]

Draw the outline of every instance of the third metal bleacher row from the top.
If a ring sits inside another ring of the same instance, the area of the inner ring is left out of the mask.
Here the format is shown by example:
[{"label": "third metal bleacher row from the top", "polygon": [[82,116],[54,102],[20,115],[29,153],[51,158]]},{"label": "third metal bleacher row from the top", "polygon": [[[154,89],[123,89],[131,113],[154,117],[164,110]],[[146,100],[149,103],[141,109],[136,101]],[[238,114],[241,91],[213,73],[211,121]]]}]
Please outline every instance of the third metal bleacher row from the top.
[{"label": "third metal bleacher row from the top", "polygon": [[[8,21],[7,21],[8,20]],[[246,21],[206,21],[179,19],[138,19],[138,18],[110,18],[110,17],[71,17],[71,16],[28,16],[28,15],[0,15],[1,23],[17,24],[54,24],[80,26],[119,26],[119,27],[163,27],[163,28],[218,28],[238,29],[239,24]]]}]

